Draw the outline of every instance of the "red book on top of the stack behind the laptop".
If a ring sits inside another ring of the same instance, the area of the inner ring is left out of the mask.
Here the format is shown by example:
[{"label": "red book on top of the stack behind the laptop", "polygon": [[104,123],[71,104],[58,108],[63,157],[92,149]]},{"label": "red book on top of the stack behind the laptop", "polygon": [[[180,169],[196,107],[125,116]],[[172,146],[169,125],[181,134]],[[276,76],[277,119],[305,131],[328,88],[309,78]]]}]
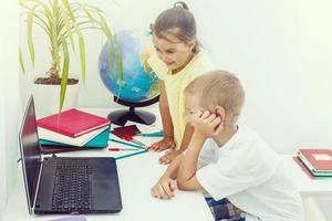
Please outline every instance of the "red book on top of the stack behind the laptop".
[{"label": "red book on top of the stack behind the laptop", "polygon": [[41,118],[37,120],[37,125],[69,137],[79,137],[110,125],[110,120],[72,108],[60,114]]}]

